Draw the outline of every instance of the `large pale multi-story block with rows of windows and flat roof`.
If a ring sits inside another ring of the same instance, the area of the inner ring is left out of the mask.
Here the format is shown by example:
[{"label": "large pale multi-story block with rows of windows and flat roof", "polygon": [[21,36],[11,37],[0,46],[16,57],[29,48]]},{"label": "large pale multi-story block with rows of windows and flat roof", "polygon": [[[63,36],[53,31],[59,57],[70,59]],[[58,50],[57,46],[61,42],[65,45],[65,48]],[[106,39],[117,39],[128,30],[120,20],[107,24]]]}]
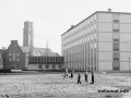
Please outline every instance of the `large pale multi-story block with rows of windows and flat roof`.
[{"label": "large pale multi-story block with rows of windows and flat roof", "polygon": [[96,11],[61,35],[64,68],[129,71],[131,13]]}]

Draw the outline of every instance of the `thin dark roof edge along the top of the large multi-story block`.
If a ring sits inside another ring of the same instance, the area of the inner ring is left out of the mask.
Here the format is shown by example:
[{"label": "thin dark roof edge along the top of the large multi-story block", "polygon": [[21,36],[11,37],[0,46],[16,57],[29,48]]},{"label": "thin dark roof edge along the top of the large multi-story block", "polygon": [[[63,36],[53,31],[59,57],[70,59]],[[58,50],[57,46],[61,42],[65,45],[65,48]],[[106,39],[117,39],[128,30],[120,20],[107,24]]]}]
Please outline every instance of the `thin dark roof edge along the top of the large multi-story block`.
[{"label": "thin dark roof edge along the top of the large multi-story block", "polygon": [[[83,21],[81,21],[80,23],[78,23],[76,25],[74,25],[73,27],[69,28],[66,33],[63,33],[62,35],[67,34],[68,32],[70,32],[71,29],[73,29],[74,27],[76,27],[78,25],[80,25],[82,22],[84,22],[85,20],[90,19],[91,16],[93,16],[96,13],[117,13],[117,14],[131,14],[128,12],[108,12],[108,11],[96,11],[93,14],[91,14],[90,16],[87,16],[86,19],[84,19]],[[62,36],[61,35],[61,36]]]}]

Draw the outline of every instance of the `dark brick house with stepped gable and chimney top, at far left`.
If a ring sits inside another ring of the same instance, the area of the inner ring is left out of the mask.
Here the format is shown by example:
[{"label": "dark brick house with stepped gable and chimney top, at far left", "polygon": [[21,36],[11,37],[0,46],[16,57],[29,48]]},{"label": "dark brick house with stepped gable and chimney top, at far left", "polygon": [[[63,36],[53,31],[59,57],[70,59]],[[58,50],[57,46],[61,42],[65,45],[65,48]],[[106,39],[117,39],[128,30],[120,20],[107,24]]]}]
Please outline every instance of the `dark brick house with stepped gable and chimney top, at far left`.
[{"label": "dark brick house with stepped gable and chimney top, at far left", "polygon": [[11,40],[10,46],[2,53],[3,65],[5,70],[26,70],[25,53],[22,51],[17,40]]}]

